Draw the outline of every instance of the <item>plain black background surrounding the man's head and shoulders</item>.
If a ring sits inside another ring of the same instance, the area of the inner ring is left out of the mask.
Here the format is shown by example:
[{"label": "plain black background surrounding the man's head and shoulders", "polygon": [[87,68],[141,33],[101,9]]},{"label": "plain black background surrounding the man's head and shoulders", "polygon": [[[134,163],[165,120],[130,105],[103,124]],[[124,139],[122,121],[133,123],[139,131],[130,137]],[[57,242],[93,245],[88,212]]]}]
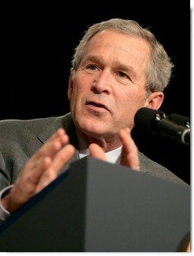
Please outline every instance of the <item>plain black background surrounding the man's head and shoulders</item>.
[{"label": "plain black background surrounding the man's head and shoulders", "polygon": [[[168,2],[69,3],[2,8],[0,119],[63,115],[74,48],[91,24],[135,19],[149,27],[175,64],[161,110],[190,116],[190,6]],[[167,137],[134,130],[145,155],[190,182],[190,148]]]}]

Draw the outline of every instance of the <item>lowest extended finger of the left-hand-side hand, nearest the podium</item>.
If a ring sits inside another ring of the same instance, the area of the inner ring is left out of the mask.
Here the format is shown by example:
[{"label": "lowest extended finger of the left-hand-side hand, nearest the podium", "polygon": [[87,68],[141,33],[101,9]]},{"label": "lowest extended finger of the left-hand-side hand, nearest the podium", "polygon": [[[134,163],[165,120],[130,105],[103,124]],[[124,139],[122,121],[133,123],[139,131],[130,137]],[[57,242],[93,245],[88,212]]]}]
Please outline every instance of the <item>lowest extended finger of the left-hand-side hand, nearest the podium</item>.
[{"label": "lowest extended finger of the left-hand-side hand, nearest the podium", "polygon": [[75,148],[72,145],[67,145],[61,149],[52,160],[49,168],[43,172],[40,181],[38,181],[36,187],[36,193],[46,187],[50,182],[57,178],[59,171],[62,170],[64,165],[66,165],[75,154]]}]

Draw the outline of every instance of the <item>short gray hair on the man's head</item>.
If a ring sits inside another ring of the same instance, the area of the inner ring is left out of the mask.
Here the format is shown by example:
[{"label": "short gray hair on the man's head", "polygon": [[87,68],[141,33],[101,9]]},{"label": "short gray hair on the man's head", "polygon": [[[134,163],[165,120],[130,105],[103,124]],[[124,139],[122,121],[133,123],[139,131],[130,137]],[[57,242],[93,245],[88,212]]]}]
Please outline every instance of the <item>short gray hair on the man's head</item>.
[{"label": "short gray hair on the man's head", "polygon": [[109,21],[103,21],[89,27],[81,39],[78,46],[75,48],[75,54],[72,59],[72,68],[76,72],[84,56],[84,49],[87,43],[100,31],[113,30],[122,34],[129,34],[135,37],[142,37],[151,46],[151,59],[148,62],[146,75],[147,92],[164,91],[170,80],[170,75],[173,69],[173,63],[170,62],[167,52],[159,43],[154,34],[147,28],[141,27],[136,21],[123,20],[113,18]]}]

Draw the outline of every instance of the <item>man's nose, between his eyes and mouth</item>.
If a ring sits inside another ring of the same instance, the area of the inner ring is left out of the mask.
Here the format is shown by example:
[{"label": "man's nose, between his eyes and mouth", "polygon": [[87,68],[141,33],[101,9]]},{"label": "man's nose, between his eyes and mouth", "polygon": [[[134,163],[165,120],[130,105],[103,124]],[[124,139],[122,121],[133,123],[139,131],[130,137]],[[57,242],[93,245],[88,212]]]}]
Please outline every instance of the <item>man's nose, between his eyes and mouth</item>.
[{"label": "man's nose, between his eyes and mouth", "polygon": [[92,89],[95,93],[110,94],[111,92],[111,74],[108,70],[103,69],[94,78]]}]

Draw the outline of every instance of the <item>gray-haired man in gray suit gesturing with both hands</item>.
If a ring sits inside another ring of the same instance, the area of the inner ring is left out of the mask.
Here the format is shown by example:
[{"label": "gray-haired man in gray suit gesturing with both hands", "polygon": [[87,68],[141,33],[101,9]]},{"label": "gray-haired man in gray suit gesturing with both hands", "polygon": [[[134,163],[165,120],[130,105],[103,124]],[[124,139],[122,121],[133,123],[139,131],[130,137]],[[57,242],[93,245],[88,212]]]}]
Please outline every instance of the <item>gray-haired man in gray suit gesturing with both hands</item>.
[{"label": "gray-haired man in gray suit gesturing with both hands", "polygon": [[72,61],[71,114],[0,122],[2,219],[89,153],[183,183],[138,152],[130,136],[139,108],[161,106],[172,68],[163,46],[135,21],[91,26]]}]

